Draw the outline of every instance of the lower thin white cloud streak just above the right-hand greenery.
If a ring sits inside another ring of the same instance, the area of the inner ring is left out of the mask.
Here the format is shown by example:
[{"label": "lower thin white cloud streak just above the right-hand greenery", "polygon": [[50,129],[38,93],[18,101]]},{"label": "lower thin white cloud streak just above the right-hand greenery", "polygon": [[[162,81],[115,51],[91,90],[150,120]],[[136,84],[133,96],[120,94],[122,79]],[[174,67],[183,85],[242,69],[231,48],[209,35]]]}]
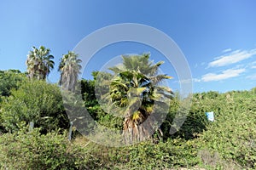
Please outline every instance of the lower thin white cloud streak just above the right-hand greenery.
[{"label": "lower thin white cloud streak just above the right-hand greenery", "polygon": [[219,81],[219,80],[224,80],[228,79],[231,77],[238,77],[242,72],[244,72],[245,69],[229,69],[222,71],[221,74],[215,74],[215,73],[208,73],[206,75],[203,75],[201,77],[201,81],[203,82],[212,82],[212,81]]}]

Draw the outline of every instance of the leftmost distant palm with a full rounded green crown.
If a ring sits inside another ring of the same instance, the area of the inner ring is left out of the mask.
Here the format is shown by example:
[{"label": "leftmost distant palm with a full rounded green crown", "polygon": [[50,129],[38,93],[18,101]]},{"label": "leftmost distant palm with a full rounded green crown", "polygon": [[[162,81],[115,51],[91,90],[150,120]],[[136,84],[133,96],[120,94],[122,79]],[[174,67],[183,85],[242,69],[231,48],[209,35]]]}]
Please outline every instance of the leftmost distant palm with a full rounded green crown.
[{"label": "leftmost distant palm with a full rounded green crown", "polygon": [[44,80],[54,68],[55,62],[52,60],[54,56],[50,55],[49,48],[44,46],[40,46],[39,49],[32,48],[26,59],[28,77]]}]

